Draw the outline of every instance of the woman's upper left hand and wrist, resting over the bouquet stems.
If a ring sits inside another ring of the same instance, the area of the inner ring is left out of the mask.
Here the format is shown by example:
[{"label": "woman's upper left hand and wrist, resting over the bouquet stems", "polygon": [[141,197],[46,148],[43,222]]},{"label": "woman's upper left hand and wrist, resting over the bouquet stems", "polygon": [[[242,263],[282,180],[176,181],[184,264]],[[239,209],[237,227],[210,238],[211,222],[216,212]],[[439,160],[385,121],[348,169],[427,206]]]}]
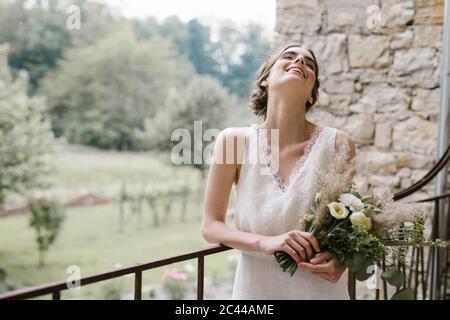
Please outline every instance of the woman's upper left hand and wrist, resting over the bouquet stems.
[{"label": "woman's upper left hand and wrist, resting over the bouquet stems", "polygon": [[320,252],[320,246],[311,233],[292,230],[279,236],[264,237],[261,240],[261,250],[268,255],[284,251],[298,264],[314,257]]}]

